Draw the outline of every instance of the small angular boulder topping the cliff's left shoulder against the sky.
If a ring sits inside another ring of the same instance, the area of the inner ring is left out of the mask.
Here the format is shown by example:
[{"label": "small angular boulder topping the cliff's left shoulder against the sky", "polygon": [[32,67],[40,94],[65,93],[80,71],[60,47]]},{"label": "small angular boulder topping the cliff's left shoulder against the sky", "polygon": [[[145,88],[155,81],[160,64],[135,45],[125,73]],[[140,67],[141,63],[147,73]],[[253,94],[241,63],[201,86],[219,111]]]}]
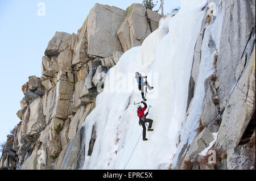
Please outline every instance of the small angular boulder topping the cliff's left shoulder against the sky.
[{"label": "small angular boulder topping the cliff's left shoulder against the sky", "polygon": [[57,55],[71,45],[72,35],[65,32],[56,32],[51,41],[49,41],[44,54],[46,56]]}]

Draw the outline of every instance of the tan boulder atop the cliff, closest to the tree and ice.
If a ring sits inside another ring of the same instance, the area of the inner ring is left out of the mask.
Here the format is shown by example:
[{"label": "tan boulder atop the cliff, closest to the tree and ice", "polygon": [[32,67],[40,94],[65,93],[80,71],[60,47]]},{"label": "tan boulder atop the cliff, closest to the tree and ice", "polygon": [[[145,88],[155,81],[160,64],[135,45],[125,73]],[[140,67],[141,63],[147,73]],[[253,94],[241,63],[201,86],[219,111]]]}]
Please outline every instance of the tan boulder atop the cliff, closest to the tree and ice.
[{"label": "tan boulder atop the cliff, closest to the tree and ice", "polygon": [[126,52],[133,47],[142,45],[150,33],[150,26],[147,23],[143,6],[139,3],[129,6],[117,32],[123,50]]}]

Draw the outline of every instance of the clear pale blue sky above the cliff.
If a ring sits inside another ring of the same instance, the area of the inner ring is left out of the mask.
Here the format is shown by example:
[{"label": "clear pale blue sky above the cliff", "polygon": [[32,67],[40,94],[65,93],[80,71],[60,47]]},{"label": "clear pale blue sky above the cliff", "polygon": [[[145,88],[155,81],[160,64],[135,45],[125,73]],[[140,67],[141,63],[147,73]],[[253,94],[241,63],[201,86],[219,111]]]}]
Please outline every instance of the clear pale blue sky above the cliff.
[{"label": "clear pale blue sky above the cliff", "polygon": [[[39,2],[46,5],[46,16],[38,16]],[[142,0],[1,0],[0,143],[6,141],[6,135],[20,121],[16,112],[20,110],[20,100],[24,96],[21,87],[28,81],[28,76],[40,77],[44,50],[55,32],[77,33],[95,3],[125,10],[132,3],[141,2]],[[178,6],[180,0],[165,0],[164,14]]]}]

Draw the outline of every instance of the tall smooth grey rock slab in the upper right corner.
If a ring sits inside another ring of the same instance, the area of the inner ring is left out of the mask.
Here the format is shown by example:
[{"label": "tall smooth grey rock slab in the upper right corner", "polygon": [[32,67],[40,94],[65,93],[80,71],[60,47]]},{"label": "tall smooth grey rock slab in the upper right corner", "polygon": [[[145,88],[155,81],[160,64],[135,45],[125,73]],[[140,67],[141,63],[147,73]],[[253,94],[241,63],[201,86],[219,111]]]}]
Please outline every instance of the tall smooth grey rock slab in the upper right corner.
[{"label": "tall smooth grey rock slab in the upper right corner", "polygon": [[[222,27],[220,42],[222,50],[218,57],[218,80],[216,82],[220,98],[220,110],[228,106],[226,103],[229,93],[240,79],[245,64],[244,58],[250,59],[255,41],[253,38],[255,35],[255,18],[250,18],[255,16],[253,7],[255,7],[255,1],[228,1],[225,5],[224,26]],[[240,64],[243,65],[239,66]],[[240,67],[241,70],[238,70]]]}]

